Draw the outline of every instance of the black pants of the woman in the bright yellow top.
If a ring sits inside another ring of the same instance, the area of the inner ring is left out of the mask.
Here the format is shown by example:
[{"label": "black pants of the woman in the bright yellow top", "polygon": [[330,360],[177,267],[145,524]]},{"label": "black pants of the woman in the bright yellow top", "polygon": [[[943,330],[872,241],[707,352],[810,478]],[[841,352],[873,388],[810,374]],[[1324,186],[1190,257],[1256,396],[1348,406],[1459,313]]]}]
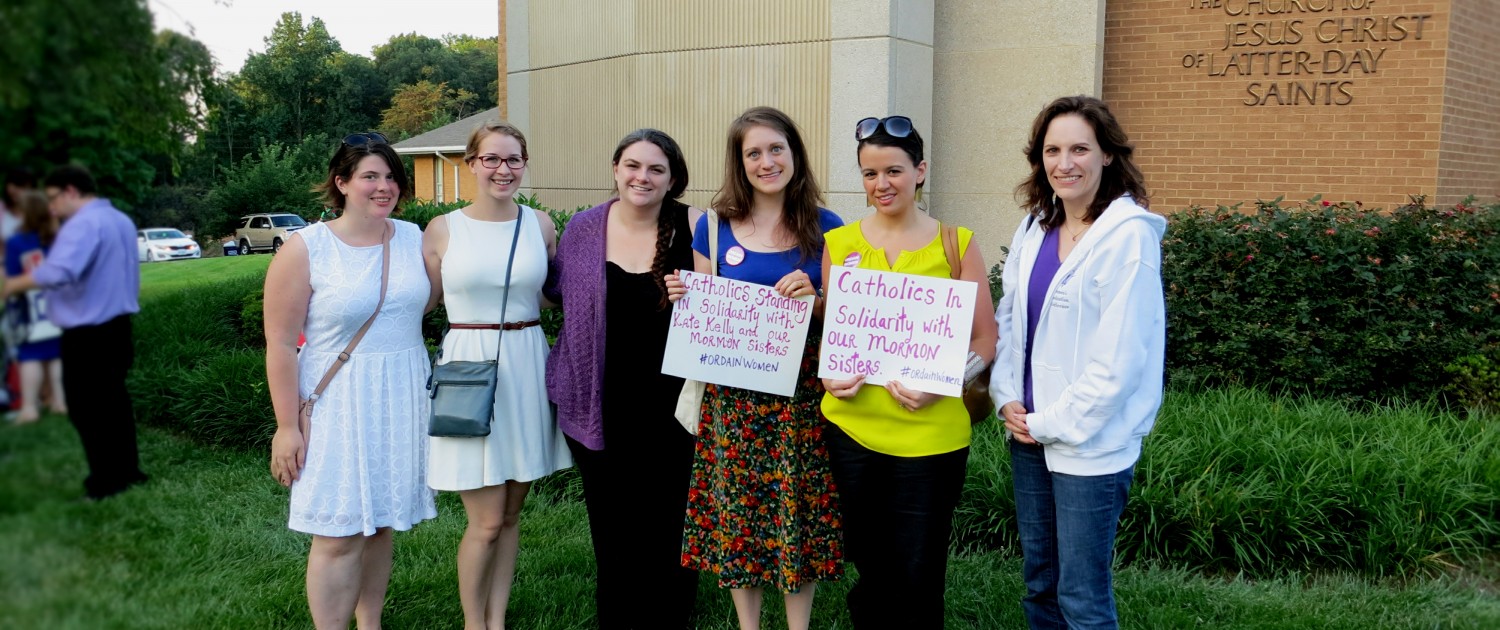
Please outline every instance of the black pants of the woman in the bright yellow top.
[{"label": "black pants of the woman in the bright yellow top", "polygon": [[844,548],[860,570],[848,602],[854,627],[940,630],[952,510],[969,448],[897,458],[866,448],[831,423],[824,435]]}]

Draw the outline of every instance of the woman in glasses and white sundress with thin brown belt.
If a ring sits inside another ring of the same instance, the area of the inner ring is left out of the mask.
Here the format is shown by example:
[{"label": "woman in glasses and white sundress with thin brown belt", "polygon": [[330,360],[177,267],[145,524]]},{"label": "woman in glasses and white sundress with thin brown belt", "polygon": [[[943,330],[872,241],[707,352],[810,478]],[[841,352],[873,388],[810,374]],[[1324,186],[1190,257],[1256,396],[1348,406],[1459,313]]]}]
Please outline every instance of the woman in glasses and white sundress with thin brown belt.
[{"label": "woman in glasses and white sundress with thin brown belt", "polygon": [[[538,321],[556,228],[544,212],[516,204],[528,158],[519,129],[500,120],[480,124],[464,152],[474,174],[474,202],[434,218],[423,236],[428,276],[448,314],[440,363],[494,360],[500,344],[489,435],[430,438],[428,459],[428,483],[459,492],[468,514],[458,556],[466,628],[506,627],[526,490],[531,482],[573,465],[548,402],[548,338]],[[506,261],[513,240],[507,297]],[[504,330],[502,300],[508,300]]]}]

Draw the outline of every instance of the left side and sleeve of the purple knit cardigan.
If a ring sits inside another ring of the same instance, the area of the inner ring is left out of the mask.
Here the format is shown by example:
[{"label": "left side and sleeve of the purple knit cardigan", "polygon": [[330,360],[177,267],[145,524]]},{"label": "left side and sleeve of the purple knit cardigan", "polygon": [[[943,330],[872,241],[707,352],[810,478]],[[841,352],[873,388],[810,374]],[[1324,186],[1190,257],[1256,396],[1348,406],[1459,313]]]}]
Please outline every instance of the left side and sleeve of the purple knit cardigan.
[{"label": "left side and sleeve of the purple knit cardigan", "polygon": [[604,230],[614,201],[573,214],[542,288],[567,310],[548,356],[548,398],[562,434],[588,450],[604,448]]}]

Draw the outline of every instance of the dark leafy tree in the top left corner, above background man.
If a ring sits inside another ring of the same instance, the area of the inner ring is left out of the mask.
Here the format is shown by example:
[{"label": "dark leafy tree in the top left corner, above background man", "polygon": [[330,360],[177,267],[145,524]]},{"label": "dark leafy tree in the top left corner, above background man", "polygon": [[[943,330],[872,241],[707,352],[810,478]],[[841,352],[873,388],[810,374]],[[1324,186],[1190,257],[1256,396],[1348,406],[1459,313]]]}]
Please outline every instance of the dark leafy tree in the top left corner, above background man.
[{"label": "dark leafy tree in the top left corner, above background man", "polygon": [[144,0],[0,3],[0,165],[78,162],[129,206],[176,164],[202,57],[158,38]]}]

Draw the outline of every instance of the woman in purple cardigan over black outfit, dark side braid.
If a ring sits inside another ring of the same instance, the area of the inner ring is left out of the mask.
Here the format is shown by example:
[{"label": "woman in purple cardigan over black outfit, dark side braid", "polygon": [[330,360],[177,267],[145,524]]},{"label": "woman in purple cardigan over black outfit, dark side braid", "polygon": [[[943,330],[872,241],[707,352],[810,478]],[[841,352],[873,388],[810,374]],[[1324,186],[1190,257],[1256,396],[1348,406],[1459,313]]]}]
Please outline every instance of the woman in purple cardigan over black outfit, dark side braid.
[{"label": "woman in purple cardigan over black outfit, dark side braid", "polygon": [[584,477],[600,628],[686,628],[698,594],[698,573],[680,564],[693,436],[672,417],[682,380],[662,374],[663,278],[693,268],[700,212],[678,201],[687,162],[660,130],[621,140],[614,174],[616,196],[568,222],[548,278],[546,297],[567,312],[548,394]]}]

